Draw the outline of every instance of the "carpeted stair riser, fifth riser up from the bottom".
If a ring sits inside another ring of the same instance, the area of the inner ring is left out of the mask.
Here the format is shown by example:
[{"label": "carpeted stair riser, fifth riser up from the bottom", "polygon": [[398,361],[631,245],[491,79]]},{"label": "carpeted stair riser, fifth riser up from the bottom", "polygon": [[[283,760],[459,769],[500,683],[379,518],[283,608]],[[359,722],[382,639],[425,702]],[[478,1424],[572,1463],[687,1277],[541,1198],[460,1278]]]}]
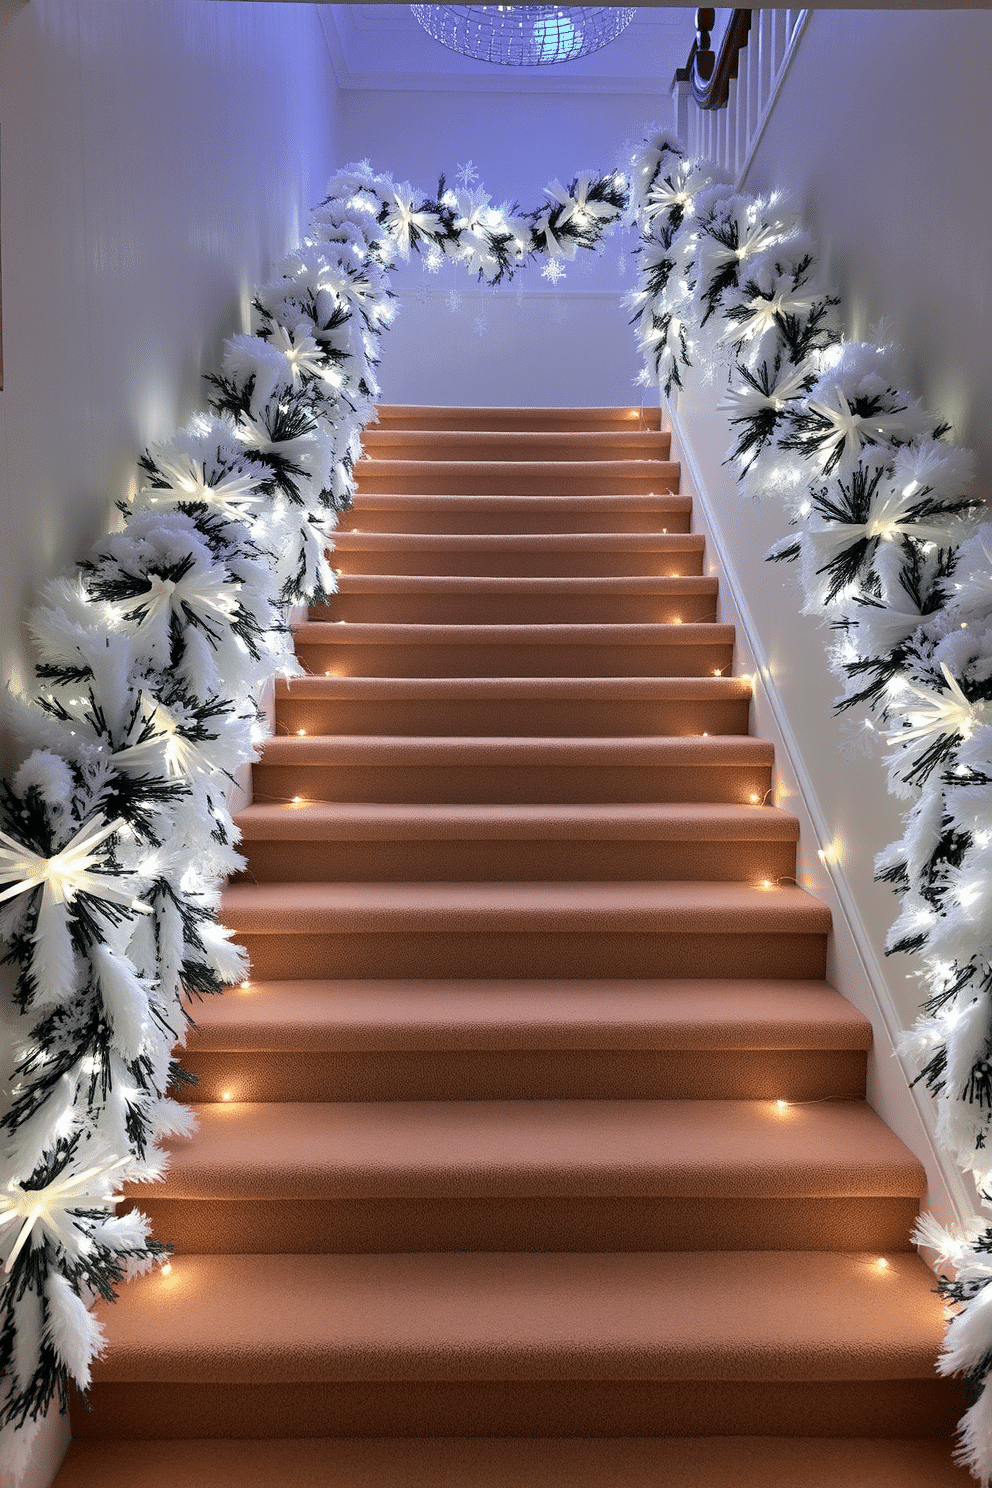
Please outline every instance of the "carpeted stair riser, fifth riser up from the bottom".
[{"label": "carpeted stair riser, fifth riser up from the bottom", "polygon": [[248,859],[247,878],[259,882],[717,879],[760,884],[796,876],[796,844],[781,841],[290,839],[245,841],[241,851]]}]

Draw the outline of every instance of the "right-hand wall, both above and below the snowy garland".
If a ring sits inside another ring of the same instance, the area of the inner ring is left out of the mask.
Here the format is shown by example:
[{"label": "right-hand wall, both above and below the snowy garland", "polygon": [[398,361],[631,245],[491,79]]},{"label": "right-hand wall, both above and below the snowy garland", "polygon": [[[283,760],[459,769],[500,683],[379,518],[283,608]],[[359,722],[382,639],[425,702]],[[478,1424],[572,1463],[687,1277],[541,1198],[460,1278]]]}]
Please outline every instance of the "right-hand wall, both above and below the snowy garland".
[{"label": "right-hand wall, both above and below the snowy garland", "polygon": [[[785,187],[802,202],[827,278],[843,296],[848,336],[877,339],[882,323],[886,339],[904,347],[909,387],[977,451],[980,490],[992,463],[989,55],[988,10],[812,12],[742,183]],[[930,1101],[919,1089],[906,1097],[892,1079],[891,1036],[913,1022],[919,984],[912,957],[883,954],[897,900],[873,881],[873,860],[901,836],[900,804],[886,792],[877,754],[851,754],[831,710],[840,689],[827,665],[830,632],[799,615],[791,570],[764,562],[785,519],[775,500],[739,496],[721,464],[730,440],[714,402],[712,382],[690,384],[678,418],[767,665],[757,711],[767,696],[766,713],[770,704],[781,713],[805,775],[821,841],[803,842],[803,881],[831,899],[836,914],[849,911],[848,981],[839,985],[876,1025],[872,1097],[927,1161],[930,1202],[949,1217],[950,1199],[964,1207],[971,1190],[955,1173],[941,1186],[927,1135]],[[782,786],[794,789],[787,778]],[[779,804],[796,808],[788,796]],[[825,842],[839,853],[834,885],[812,856]]]}]

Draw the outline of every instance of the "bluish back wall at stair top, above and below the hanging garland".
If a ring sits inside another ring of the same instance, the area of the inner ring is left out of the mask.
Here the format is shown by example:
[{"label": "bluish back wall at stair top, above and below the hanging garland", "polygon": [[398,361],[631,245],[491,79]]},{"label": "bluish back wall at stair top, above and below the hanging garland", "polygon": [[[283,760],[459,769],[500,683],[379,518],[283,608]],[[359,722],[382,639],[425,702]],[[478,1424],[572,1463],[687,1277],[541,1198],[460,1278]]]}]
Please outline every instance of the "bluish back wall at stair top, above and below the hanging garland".
[{"label": "bluish back wall at stair top, above and below the hanging garland", "polygon": [[[648,94],[473,94],[345,89],[345,159],[369,158],[397,182],[433,190],[445,171],[455,185],[471,161],[494,201],[524,208],[547,202],[544,186],[611,170],[620,146],[671,118],[669,79]],[[415,256],[400,265],[400,314],[385,338],[382,397],[396,403],[582,405],[638,400],[640,371],[620,256],[632,238],[613,235],[602,254],[565,265],[555,290],[532,262],[501,290],[483,292],[451,263],[434,278]],[[418,295],[427,289],[430,299]],[[461,305],[448,308],[457,290]],[[518,289],[522,296],[518,299]],[[477,321],[486,329],[479,333]]]}]

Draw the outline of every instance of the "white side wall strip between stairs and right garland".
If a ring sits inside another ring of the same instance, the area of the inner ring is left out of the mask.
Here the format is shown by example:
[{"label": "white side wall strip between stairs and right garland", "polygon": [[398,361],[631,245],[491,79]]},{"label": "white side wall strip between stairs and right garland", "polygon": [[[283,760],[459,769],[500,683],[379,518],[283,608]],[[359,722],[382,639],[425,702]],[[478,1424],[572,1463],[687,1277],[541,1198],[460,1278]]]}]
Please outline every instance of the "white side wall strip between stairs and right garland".
[{"label": "white side wall strip between stairs and right garland", "polygon": [[[927,1168],[924,1201],[941,1223],[974,1210],[974,1190],[934,1146],[931,1101],[895,1054],[916,1016],[913,958],[885,957],[898,902],[873,881],[875,854],[901,835],[877,756],[849,747],[833,714],[839,684],[827,665],[830,632],[800,615],[796,574],[764,554],[787,530],[779,503],[751,501],[723,464],[732,443],[712,385],[693,372],[663,409],[681,491],[693,498],[693,530],[706,537],[706,573],[720,579],[717,619],[736,625],[736,676],[754,676],[751,731],[775,744],[773,805],[800,820],[797,873],[833,914],[827,978],[870,1018],[869,1101]],[[860,722],[860,720],[858,720]],[[824,851],[825,862],[819,859]]]}]

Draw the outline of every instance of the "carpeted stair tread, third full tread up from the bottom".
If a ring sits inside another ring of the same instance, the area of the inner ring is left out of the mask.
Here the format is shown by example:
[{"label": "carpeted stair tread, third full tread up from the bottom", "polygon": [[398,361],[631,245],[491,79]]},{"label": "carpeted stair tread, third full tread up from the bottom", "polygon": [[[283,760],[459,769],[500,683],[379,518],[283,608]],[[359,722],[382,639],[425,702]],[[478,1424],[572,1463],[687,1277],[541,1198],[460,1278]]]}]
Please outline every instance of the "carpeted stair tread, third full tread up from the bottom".
[{"label": "carpeted stair tread, third full tread up from the bottom", "polygon": [[202,1051],[867,1049],[827,982],[250,982],[195,1009]]}]

